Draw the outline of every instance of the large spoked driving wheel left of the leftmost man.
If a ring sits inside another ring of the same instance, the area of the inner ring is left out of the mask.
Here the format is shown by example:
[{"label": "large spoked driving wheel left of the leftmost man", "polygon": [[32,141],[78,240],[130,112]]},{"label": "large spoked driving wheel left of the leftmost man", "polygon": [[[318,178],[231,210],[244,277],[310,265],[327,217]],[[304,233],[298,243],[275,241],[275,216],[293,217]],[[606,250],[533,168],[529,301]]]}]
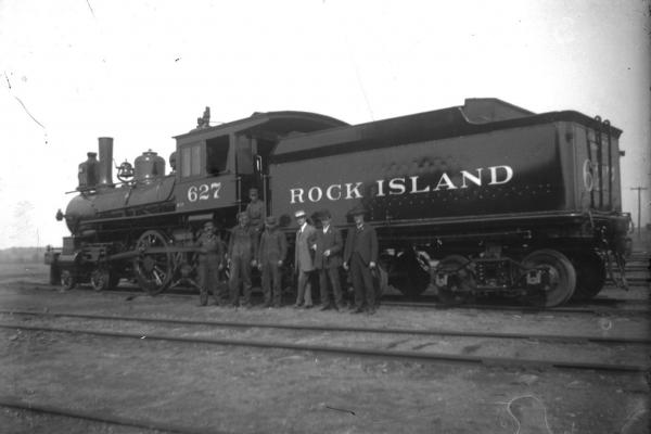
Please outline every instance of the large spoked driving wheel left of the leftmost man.
[{"label": "large spoked driving wheel left of the leftmost man", "polygon": [[133,271],[140,288],[151,295],[162,293],[171,282],[174,257],[167,247],[166,238],[156,230],[144,232],[136,244],[141,253],[133,260]]}]

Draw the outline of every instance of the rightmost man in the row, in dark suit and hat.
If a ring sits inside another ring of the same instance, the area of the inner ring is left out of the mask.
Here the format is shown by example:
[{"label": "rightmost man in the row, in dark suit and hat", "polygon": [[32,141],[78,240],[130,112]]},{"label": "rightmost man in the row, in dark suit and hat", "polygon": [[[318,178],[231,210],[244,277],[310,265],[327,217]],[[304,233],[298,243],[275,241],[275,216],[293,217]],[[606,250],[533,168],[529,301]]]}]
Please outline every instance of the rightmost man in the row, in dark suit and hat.
[{"label": "rightmost man in the row, in dark suit and hat", "polygon": [[[378,234],[363,221],[366,209],[356,206],[350,210],[355,227],[348,229],[344,248],[344,268],[350,269],[355,288],[355,308],[352,314],[361,314],[366,305],[369,315],[375,314],[375,290],[371,270],[378,264]],[[366,303],[365,303],[366,302]]]}]

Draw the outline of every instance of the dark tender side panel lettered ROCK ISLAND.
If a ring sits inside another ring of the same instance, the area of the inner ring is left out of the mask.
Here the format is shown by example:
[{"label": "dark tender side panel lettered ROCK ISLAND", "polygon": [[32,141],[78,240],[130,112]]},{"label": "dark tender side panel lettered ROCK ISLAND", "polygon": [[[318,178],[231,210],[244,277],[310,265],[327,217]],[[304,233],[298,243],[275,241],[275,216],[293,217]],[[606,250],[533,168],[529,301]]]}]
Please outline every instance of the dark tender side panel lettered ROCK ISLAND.
[{"label": "dark tender side panel lettered ROCK ISLAND", "polygon": [[329,208],[343,225],[359,203],[393,224],[565,210],[560,158],[548,124],[279,163],[272,213]]}]

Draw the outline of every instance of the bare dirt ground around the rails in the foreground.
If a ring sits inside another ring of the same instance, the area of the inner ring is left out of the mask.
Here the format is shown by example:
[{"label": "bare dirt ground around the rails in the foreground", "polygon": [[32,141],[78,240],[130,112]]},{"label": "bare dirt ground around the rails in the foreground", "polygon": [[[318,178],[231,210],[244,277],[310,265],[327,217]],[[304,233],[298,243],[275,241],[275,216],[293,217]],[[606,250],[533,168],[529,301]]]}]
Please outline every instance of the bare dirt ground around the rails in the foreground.
[{"label": "bare dirt ground around the rails in the foreground", "polygon": [[[37,275],[35,271],[23,283],[0,279],[0,309],[414,329],[629,336],[649,333],[649,318],[643,316],[573,317],[383,307],[374,317],[367,317],[291,308],[199,308],[193,297],[36,290],[30,281],[47,281]],[[638,291],[648,294],[648,288]],[[20,319],[0,317],[2,323],[16,321]],[[55,326],[64,324],[63,320],[58,321]],[[39,323],[36,319],[24,322]],[[74,320],[66,322],[75,327]],[[107,322],[106,328],[110,327]],[[219,331],[209,328],[183,333],[219,335]],[[255,330],[233,333],[266,337]],[[304,342],[328,336],[297,339]],[[350,342],[359,339],[352,337]],[[422,344],[400,340],[405,337],[371,344],[404,349]],[[590,344],[545,347],[546,343],[526,341],[502,348],[493,341],[477,344],[454,337],[427,340],[434,350],[447,348],[464,354],[526,356],[547,348],[544,352],[558,352],[557,356],[570,360],[598,355]],[[609,348],[601,356],[609,361],[626,361],[623,358],[629,353],[620,349]],[[640,347],[630,360],[638,362],[648,357],[648,347]],[[649,432],[649,384],[641,374],[422,363],[15,329],[0,329],[0,397],[206,432]],[[5,407],[0,407],[0,426],[2,433],[149,432]]]}]

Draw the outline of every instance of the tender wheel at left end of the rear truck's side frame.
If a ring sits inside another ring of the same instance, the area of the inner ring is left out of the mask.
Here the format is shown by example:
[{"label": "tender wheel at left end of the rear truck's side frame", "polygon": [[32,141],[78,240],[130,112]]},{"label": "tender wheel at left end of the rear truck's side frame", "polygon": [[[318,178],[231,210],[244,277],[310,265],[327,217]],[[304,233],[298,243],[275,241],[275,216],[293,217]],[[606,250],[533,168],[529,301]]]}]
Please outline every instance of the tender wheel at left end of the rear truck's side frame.
[{"label": "tender wheel at left end of the rear truck's side frame", "polygon": [[438,264],[437,272],[447,275],[445,284],[435,284],[442,303],[457,305],[474,299],[476,284],[472,271],[467,267],[468,263],[470,260],[461,255],[450,255]]}]

